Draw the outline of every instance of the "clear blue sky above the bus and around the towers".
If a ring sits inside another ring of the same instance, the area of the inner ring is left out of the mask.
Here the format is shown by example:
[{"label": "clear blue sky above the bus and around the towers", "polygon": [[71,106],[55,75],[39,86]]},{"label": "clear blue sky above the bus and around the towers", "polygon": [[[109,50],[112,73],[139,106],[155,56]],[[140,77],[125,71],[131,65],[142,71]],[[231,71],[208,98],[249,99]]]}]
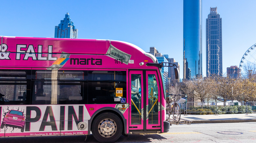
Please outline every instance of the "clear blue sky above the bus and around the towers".
[{"label": "clear blue sky above the bus and around the towers", "polygon": [[[223,72],[239,66],[256,43],[256,0],[203,0],[203,75],[205,20],[210,7],[222,18]],[[110,39],[133,43],[144,51],[156,47],[180,63],[183,75],[183,0],[3,0],[2,36],[54,37],[54,27],[69,12],[79,39]]]}]

